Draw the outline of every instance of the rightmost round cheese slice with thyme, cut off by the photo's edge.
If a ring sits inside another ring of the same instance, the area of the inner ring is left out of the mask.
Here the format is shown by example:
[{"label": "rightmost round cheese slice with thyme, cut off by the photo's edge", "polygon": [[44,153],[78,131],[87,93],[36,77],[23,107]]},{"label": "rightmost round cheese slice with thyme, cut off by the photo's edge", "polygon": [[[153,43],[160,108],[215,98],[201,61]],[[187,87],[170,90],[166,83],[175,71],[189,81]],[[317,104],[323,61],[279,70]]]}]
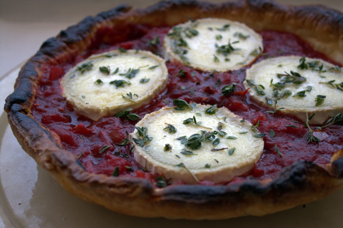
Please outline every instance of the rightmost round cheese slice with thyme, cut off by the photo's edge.
[{"label": "rightmost round cheese slice with thyme, cut off by the photo's edge", "polygon": [[304,122],[306,112],[308,116],[315,113],[310,123],[323,124],[343,113],[342,82],[343,72],[331,63],[283,56],[254,64],[247,70],[244,84],[251,87],[250,96],[260,105]]}]

